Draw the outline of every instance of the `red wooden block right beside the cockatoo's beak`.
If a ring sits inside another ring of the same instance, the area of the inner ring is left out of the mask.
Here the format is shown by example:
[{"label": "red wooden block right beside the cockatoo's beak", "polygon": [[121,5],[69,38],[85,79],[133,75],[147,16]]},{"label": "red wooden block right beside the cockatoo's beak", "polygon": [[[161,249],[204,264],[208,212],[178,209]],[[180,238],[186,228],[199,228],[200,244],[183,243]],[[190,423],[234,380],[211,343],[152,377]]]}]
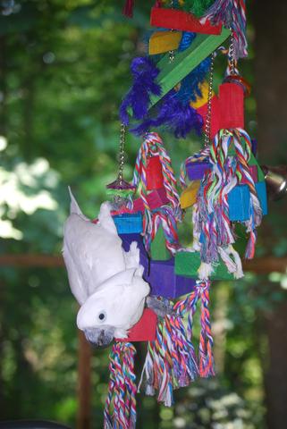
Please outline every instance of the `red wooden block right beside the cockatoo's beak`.
[{"label": "red wooden block right beside the cockatoo's beak", "polygon": [[155,341],[157,315],[150,308],[145,308],[139,322],[132,326],[128,338],[116,338],[115,341]]}]

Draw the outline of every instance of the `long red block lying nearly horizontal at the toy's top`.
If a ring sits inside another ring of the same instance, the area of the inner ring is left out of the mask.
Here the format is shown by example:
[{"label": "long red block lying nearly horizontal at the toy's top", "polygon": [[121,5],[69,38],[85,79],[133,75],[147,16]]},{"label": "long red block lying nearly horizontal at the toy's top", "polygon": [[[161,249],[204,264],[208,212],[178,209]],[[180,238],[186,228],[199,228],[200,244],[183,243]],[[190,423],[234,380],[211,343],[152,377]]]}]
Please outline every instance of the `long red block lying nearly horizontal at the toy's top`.
[{"label": "long red block lying nearly horizontal at the toy's top", "polygon": [[192,31],[203,34],[221,34],[222,24],[212,25],[210,21],[202,24],[191,13],[176,9],[153,7],[150,13],[150,25],[163,27],[164,29],[179,29],[180,31]]}]

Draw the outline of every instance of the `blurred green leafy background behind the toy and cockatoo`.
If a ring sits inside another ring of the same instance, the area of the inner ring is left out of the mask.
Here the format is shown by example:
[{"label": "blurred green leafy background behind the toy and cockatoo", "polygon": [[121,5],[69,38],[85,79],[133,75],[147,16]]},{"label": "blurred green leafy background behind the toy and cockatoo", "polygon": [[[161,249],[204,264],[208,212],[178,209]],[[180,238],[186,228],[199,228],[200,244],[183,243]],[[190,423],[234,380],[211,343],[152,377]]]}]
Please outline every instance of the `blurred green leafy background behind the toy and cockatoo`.
[{"label": "blurred green leafy background behind the toy and cockatoo", "polygon": [[[131,84],[129,64],[147,49],[152,2],[136,3],[129,21],[116,0],[1,2],[2,255],[60,253],[68,185],[84,213],[97,215],[106,183],[116,172],[118,106]],[[241,71],[256,85],[255,30],[249,18],[249,58]],[[223,72],[224,63],[218,60],[217,84]],[[246,121],[252,136],[257,136],[256,109],[252,95]],[[202,144],[192,137],[174,141],[164,136],[177,172],[181,161]],[[132,136],[127,139],[128,179],[139,143]],[[284,139],[278,141],[281,163],[283,144]],[[270,207],[258,256],[286,255],[283,207],[284,202]],[[189,225],[184,228],[181,234],[191,240]],[[0,418],[48,418],[74,427],[77,305],[66,273],[56,267],[2,266],[0,288]],[[241,282],[215,283],[218,375],[176,392],[176,405],[170,409],[140,396],[138,427],[265,428],[270,357],[266,318],[276,317],[285,305],[286,289],[287,278],[280,273],[248,273]],[[97,350],[92,358],[93,428],[102,427],[107,352]],[[268,422],[268,427],[279,427]]]}]

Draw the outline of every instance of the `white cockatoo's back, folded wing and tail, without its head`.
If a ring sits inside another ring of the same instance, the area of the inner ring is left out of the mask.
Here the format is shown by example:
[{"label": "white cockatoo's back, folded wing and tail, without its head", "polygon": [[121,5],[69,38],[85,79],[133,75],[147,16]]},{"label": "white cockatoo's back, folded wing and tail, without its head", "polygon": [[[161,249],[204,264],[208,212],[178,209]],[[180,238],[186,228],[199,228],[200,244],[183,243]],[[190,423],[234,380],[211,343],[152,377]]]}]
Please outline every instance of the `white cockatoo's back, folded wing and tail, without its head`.
[{"label": "white cockatoo's back, folded wing and tail, without its head", "polygon": [[83,296],[76,290],[86,290],[89,296],[109,277],[125,270],[122,240],[107,203],[101,206],[98,223],[91,223],[81,214],[73,196],[71,208],[64,225],[63,256],[68,261],[72,293]]}]

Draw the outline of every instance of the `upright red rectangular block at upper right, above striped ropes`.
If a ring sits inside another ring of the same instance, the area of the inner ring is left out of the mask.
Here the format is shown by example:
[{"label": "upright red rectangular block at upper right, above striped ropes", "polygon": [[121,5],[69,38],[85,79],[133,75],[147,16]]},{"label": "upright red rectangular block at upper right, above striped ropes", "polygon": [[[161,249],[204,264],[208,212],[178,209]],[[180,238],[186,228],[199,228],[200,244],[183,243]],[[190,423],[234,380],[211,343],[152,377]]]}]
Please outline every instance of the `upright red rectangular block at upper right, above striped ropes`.
[{"label": "upright red rectangular block at upper right, above striped ropes", "polygon": [[220,129],[244,128],[244,88],[236,83],[219,87]]}]

